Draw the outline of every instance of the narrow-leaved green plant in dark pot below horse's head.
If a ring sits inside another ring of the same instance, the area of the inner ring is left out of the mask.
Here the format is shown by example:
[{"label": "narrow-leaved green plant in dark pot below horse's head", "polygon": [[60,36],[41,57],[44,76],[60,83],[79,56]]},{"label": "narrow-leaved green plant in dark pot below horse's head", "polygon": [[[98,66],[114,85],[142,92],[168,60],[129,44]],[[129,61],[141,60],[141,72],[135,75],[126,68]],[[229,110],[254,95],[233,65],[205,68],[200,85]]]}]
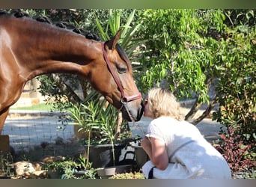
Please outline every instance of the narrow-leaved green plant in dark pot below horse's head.
[{"label": "narrow-leaved green plant in dark pot below horse's head", "polygon": [[85,103],[70,109],[74,124],[80,127],[79,131],[87,133],[83,144],[87,150],[87,160],[92,162],[93,168],[118,165],[121,150],[126,146],[122,140],[130,136],[124,128],[128,126],[127,123],[123,122],[117,128],[118,111],[112,105],[106,105],[105,99],[99,102],[100,96],[92,91]]}]

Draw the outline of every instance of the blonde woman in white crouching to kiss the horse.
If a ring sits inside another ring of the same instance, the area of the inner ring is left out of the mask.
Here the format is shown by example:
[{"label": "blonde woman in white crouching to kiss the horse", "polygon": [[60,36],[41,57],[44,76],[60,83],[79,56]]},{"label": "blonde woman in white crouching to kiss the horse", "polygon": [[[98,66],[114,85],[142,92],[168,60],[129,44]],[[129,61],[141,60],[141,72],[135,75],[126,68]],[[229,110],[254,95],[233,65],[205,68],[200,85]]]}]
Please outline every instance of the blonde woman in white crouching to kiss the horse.
[{"label": "blonde woman in white crouching to kiss the horse", "polygon": [[183,120],[179,102],[170,91],[151,89],[144,117],[153,119],[141,140],[150,158],[142,167],[147,178],[231,179],[228,163],[197,127]]}]

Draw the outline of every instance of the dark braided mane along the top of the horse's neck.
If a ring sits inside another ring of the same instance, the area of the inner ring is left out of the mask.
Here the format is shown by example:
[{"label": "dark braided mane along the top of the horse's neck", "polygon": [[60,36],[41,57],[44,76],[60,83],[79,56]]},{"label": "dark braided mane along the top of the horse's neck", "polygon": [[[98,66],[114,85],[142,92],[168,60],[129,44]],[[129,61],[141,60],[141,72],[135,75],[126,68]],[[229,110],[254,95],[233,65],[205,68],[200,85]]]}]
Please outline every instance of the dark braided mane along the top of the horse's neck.
[{"label": "dark braided mane along the top of the horse's neck", "polygon": [[89,31],[86,31],[84,28],[76,28],[74,25],[72,25],[70,22],[52,22],[51,19],[47,16],[33,16],[31,17],[28,13],[22,12],[21,10],[10,10],[8,12],[7,10],[0,10],[0,16],[13,16],[16,18],[27,18],[27,19],[34,19],[37,22],[44,22],[53,26],[56,26],[58,28],[63,28],[68,31],[73,31],[76,34],[81,34],[85,38],[89,40],[97,40],[100,41],[100,38],[96,34],[92,34]]}]

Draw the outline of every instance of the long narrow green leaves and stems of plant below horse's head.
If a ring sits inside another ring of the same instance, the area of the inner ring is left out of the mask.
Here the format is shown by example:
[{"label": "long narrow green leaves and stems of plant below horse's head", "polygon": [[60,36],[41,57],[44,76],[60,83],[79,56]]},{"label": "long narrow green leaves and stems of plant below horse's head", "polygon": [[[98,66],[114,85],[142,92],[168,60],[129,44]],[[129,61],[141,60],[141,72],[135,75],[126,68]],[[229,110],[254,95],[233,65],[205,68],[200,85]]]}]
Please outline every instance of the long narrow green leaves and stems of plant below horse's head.
[{"label": "long narrow green leaves and stems of plant below horse's head", "polygon": [[[112,144],[112,156],[115,161],[115,143],[120,142],[122,137],[127,138],[122,131],[118,132],[118,114],[119,111],[112,105],[105,105],[106,99],[100,102],[101,94],[92,91],[86,98],[85,102],[79,107],[76,105],[70,108],[71,117],[75,125],[79,126],[79,132],[88,134],[87,140],[83,144],[87,144],[87,156],[89,160],[90,145],[92,144]],[[127,129],[127,122],[121,123],[120,129]],[[125,132],[125,130],[123,131]]]}]

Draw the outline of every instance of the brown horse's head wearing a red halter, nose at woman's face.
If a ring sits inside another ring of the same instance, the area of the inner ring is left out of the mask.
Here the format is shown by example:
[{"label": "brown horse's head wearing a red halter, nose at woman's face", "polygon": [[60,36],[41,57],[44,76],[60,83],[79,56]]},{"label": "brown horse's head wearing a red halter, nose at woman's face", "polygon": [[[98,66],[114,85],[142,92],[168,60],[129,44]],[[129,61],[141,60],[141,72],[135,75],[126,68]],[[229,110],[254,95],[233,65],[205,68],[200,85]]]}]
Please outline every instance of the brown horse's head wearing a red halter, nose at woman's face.
[{"label": "brown horse's head wearing a red halter, nose at woman's face", "polygon": [[121,30],[111,40],[102,43],[103,58],[100,63],[109,71],[98,72],[98,76],[94,76],[97,84],[93,85],[109,103],[122,111],[124,119],[138,121],[143,114],[144,105],[132,77],[131,62],[118,45],[120,35]]}]

